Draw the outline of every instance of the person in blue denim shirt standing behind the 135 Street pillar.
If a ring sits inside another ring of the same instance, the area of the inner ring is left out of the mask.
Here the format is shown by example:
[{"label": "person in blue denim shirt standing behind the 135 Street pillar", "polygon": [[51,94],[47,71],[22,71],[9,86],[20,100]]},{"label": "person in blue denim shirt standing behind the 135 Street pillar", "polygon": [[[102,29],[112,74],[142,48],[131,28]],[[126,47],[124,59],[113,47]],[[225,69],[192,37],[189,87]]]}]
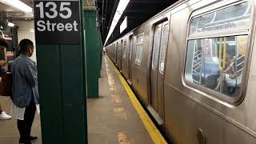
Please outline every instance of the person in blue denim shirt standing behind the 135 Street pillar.
[{"label": "person in blue denim shirt standing behind the 135 Street pillar", "polygon": [[30,135],[34,114],[38,108],[38,75],[35,63],[30,59],[34,44],[29,39],[19,43],[20,56],[11,66],[13,74],[13,115],[18,118],[19,143],[30,144],[37,137]]}]

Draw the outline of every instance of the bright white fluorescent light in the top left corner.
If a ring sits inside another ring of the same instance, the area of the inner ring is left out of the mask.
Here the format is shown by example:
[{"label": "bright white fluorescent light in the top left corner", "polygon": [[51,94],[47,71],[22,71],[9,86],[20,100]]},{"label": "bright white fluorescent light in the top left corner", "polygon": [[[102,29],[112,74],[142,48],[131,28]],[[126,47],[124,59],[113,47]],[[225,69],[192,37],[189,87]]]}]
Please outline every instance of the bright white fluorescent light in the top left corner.
[{"label": "bright white fluorescent light in the top left corner", "polygon": [[22,10],[23,12],[26,12],[26,13],[33,12],[33,9],[30,6],[27,6],[24,2],[21,2],[19,0],[0,0],[0,2],[3,2],[9,6],[13,6],[14,8],[18,10]]}]

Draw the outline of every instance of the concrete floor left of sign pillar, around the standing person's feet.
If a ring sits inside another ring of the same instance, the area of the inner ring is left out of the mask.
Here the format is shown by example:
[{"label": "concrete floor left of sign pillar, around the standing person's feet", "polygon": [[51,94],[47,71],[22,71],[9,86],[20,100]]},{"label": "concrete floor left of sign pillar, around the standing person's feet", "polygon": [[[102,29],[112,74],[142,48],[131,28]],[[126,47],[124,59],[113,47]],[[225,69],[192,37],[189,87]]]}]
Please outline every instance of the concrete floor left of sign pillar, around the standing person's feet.
[{"label": "concrete floor left of sign pillar, around the standing person's feet", "polygon": [[[6,111],[6,114],[10,114],[12,102],[8,97],[0,96],[0,103],[2,110]],[[35,115],[34,123],[32,126],[31,134],[38,137],[38,142],[34,144],[41,144],[41,123],[40,116]],[[0,120],[0,144],[18,144],[19,133],[17,128],[17,119],[12,118],[10,120]]]}]

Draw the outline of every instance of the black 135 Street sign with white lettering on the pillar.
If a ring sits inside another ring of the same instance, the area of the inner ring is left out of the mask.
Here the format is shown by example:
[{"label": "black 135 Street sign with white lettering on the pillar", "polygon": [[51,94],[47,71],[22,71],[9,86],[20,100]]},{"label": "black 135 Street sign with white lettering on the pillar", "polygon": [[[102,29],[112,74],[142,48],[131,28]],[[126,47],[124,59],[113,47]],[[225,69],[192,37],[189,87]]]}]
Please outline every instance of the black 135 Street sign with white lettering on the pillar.
[{"label": "black 135 Street sign with white lettering on the pillar", "polygon": [[79,10],[78,0],[35,0],[37,44],[79,44]]}]

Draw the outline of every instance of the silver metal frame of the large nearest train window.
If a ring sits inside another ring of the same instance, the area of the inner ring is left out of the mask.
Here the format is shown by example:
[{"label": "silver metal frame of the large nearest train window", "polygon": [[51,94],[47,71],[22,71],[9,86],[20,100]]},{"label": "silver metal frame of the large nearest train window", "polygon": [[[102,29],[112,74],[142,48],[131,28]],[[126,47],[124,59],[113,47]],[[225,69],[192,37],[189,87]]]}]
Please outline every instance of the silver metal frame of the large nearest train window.
[{"label": "silver metal frame of the large nearest train window", "polygon": [[[190,34],[191,31],[191,23],[192,20],[194,18],[200,17],[204,14],[210,14],[214,11],[217,10],[222,10],[225,9],[227,7],[231,7],[231,6],[235,6],[235,5],[239,5],[242,4],[243,2],[248,2],[249,6],[250,6],[250,23],[248,26],[244,26],[244,27],[239,27],[239,29],[230,29],[230,30],[218,30],[218,32],[216,33],[212,33],[212,31],[210,31],[210,33],[208,34],[206,32],[206,34]],[[218,2],[221,3],[221,2]],[[218,5],[217,3],[217,5]],[[208,9],[207,9],[208,8]],[[250,65],[250,52],[252,49],[251,46],[251,33],[252,33],[252,24],[254,21],[254,5],[252,5],[252,3],[250,1],[235,1],[235,2],[229,2],[229,3],[222,3],[221,6],[218,6],[218,8],[213,8],[210,9],[209,6],[204,7],[204,8],[199,8],[198,10],[194,10],[193,12],[191,12],[190,14],[190,18],[188,19],[188,29],[187,29],[187,34],[186,34],[186,50],[185,50],[185,58],[184,58],[184,62],[183,62],[183,67],[182,67],[182,84],[188,88],[190,88],[190,90],[194,90],[208,98],[214,99],[216,100],[216,98],[220,99],[221,101],[227,102],[231,105],[238,105],[239,103],[242,102],[242,99],[245,97],[246,95],[246,86],[247,86],[247,82],[248,82],[248,65]],[[201,10],[201,11],[200,11]],[[216,92],[214,90],[210,90],[205,86],[201,86],[198,84],[195,84],[194,82],[190,82],[189,80],[186,79],[186,62],[187,62],[187,58],[188,58],[188,51],[189,51],[189,42],[193,41],[193,40],[198,40],[198,39],[203,39],[203,38],[226,38],[226,37],[238,37],[238,36],[242,36],[242,35],[246,35],[247,36],[247,49],[246,49],[246,54],[244,56],[244,64],[243,64],[243,72],[242,72],[242,85],[240,90],[238,90],[238,94],[236,94],[234,96],[234,98],[226,95],[226,94],[222,94],[220,92]],[[218,101],[218,100],[217,100]]]}]

